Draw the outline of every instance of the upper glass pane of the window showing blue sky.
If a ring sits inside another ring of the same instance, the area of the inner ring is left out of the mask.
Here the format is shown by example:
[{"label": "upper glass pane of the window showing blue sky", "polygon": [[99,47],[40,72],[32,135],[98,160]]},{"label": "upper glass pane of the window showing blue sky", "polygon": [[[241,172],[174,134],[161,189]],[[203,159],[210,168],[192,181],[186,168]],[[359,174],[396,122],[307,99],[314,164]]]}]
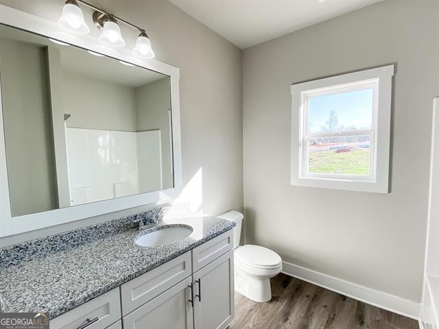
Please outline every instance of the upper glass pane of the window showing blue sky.
[{"label": "upper glass pane of the window showing blue sky", "polygon": [[311,97],[308,131],[340,132],[372,128],[373,89]]}]

